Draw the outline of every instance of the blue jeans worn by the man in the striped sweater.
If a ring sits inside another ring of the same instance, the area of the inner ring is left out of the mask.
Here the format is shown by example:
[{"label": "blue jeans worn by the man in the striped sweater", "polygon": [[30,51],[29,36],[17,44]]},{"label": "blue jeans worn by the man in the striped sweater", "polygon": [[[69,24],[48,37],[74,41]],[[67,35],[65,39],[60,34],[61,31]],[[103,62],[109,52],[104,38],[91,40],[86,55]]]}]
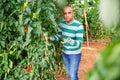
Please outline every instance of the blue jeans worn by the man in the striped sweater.
[{"label": "blue jeans worn by the man in the striped sweater", "polygon": [[78,80],[78,69],[81,60],[80,54],[65,54],[63,53],[63,60],[68,73],[69,80]]}]

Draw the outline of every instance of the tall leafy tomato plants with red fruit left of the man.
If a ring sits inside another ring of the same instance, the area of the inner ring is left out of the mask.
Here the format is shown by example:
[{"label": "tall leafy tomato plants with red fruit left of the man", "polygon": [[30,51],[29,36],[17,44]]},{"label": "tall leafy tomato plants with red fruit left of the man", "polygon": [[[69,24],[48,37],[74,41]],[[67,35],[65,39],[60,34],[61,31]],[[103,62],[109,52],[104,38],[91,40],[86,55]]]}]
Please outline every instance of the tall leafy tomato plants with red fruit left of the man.
[{"label": "tall leafy tomato plants with red fruit left of the man", "polygon": [[60,16],[55,0],[0,1],[0,80],[56,79],[55,67],[63,66],[60,43],[47,38]]}]

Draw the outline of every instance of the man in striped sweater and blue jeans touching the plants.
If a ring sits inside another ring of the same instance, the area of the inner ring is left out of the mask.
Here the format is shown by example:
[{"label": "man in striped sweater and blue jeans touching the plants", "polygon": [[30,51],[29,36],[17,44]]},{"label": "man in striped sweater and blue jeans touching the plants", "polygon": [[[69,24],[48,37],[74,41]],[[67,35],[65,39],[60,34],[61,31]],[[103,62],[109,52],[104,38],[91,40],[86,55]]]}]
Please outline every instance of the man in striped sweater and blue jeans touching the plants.
[{"label": "man in striped sweater and blue jeans touching the plants", "polygon": [[63,60],[69,80],[78,80],[78,68],[81,60],[81,47],[83,41],[83,25],[74,19],[71,6],[63,9],[63,17],[56,35],[50,37],[51,41],[63,39]]}]

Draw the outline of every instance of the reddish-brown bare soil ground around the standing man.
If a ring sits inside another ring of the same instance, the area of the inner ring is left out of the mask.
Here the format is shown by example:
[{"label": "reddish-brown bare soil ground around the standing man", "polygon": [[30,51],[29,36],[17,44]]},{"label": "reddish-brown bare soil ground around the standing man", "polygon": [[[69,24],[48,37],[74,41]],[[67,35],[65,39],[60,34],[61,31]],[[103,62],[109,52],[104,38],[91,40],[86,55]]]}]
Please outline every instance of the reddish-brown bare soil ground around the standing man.
[{"label": "reddish-brown bare soil ground around the standing man", "polygon": [[[92,40],[89,41],[89,46],[87,46],[86,42],[83,43],[82,59],[78,71],[79,80],[85,80],[87,73],[94,67],[98,54],[105,48],[107,42],[110,42],[110,39],[105,39],[103,41]],[[58,75],[57,77],[58,80],[68,80],[67,74]]]}]

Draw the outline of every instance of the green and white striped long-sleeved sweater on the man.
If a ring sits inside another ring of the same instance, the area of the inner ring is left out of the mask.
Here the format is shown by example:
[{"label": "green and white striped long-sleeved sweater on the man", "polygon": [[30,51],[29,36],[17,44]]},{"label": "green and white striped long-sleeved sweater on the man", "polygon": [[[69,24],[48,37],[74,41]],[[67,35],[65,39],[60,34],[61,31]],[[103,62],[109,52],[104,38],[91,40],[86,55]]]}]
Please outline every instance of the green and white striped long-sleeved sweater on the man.
[{"label": "green and white striped long-sleeved sweater on the man", "polygon": [[83,33],[83,25],[80,22],[74,20],[71,24],[67,24],[63,20],[59,25],[58,33],[51,38],[53,41],[58,41],[60,38],[70,38],[73,43],[64,43],[63,52],[66,54],[79,54],[82,47]]}]

